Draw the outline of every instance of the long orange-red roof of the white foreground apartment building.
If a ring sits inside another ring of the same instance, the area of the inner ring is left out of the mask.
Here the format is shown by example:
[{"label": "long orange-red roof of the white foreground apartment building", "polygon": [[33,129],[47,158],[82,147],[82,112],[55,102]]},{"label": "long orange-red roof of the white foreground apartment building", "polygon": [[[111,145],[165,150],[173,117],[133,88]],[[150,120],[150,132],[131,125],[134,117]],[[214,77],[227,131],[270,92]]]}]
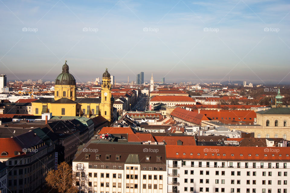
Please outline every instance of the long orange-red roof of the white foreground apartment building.
[{"label": "long orange-red roof of the white foreground apartment building", "polygon": [[289,161],[290,154],[289,147],[228,147],[228,146],[193,147],[183,145],[166,145],[165,148],[167,159]]}]

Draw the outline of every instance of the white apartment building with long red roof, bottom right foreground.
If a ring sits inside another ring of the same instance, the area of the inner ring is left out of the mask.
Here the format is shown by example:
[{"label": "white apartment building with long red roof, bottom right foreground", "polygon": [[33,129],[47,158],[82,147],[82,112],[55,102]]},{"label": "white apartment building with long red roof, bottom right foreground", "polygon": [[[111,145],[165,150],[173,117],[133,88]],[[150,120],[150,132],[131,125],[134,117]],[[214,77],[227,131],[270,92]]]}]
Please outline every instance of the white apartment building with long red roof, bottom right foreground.
[{"label": "white apartment building with long red roof, bottom right foreground", "polygon": [[168,192],[290,191],[287,147],[166,145]]}]

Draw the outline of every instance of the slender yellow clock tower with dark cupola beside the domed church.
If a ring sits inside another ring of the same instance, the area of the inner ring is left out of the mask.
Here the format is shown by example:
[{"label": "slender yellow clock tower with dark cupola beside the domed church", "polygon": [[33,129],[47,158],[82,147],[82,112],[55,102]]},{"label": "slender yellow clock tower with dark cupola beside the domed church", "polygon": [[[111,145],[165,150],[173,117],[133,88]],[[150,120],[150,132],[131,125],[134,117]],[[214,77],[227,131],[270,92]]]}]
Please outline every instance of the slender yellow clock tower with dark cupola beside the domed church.
[{"label": "slender yellow clock tower with dark cupola beside the domed church", "polygon": [[101,115],[111,123],[113,119],[113,103],[114,98],[111,94],[111,75],[106,68],[105,73],[103,74],[103,81],[101,85],[101,103],[100,111]]}]

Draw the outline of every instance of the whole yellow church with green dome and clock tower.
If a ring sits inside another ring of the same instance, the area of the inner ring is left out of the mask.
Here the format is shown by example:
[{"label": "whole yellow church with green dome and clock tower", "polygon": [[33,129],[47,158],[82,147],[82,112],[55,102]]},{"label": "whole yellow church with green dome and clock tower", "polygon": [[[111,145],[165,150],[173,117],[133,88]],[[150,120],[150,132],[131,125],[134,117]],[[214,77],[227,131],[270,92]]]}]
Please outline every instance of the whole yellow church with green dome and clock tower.
[{"label": "whole yellow church with green dome and clock tower", "polygon": [[[67,62],[67,61],[66,61]],[[101,98],[77,98],[76,79],[69,73],[69,66],[55,81],[54,98],[40,98],[33,101],[34,115],[50,112],[52,116],[84,116],[87,118],[102,115],[109,122],[113,120],[114,98],[111,95],[111,75],[106,69],[101,85]]]}]

